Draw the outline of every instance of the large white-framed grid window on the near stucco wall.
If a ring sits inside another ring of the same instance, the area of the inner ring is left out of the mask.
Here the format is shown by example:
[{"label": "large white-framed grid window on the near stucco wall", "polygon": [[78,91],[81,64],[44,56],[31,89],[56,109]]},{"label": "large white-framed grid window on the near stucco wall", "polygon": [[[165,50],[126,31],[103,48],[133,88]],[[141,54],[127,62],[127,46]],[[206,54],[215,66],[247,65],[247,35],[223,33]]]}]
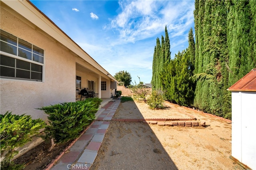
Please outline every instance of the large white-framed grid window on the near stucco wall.
[{"label": "large white-framed grid window on the near stucco wall", "polygon": [[44,50],[3,30],[0,35],[1,78],[42,81]]}]

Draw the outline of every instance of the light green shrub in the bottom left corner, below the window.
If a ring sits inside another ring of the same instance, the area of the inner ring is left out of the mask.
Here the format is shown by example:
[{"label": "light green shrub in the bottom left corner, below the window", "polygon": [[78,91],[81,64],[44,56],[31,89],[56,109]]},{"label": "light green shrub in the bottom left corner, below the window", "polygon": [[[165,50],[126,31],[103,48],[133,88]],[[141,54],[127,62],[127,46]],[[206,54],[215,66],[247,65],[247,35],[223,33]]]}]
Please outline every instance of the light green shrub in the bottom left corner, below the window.
[{"label": "light green shrub in the bottom left corner, below the window", "polygon": [[1,152],[5,159],[1,162],[2,169],[20,169],[22,165],[15,165],[11,159],[18,153],[16,148],[23,146],[39,133],[46,123],[42,119],[32,119],[29,115],[12,115],[6,112],[0,115]]}]

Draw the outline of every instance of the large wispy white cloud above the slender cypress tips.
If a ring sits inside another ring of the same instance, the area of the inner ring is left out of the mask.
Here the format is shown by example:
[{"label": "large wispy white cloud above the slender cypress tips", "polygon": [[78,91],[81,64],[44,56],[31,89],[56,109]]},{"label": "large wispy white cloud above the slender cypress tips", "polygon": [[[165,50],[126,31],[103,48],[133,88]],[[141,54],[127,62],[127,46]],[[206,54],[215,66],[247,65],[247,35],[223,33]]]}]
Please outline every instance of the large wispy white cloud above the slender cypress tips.
[{"label": "large wispy white cloud above the slender cypress tips", "polygon": [[104,28],[118,32],[122,43],[155,37],[166,25],[171,36],[187,35],[184,31],[194,22],[193,1],[120,1],[119,5],[122,12]]}]

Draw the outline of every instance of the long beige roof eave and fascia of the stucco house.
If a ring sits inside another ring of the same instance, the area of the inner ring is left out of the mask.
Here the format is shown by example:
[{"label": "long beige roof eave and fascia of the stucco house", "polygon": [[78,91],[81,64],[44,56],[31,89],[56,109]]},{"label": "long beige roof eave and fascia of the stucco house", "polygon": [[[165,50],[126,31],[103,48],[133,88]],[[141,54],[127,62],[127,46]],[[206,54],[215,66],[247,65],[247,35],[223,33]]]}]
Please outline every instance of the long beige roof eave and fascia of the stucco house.
[{"label": "long beige roof eave and fascia of the stucco house", "polygon": [[[117,81],[112,75],[108,73],[100,64],[98,64],[84,49],[82,49],[76,42],[74,42],[65,32],[63,32],[50,18],[41,12],[29,0],[1,0],[1,3],[6,4],[18,14],[32,22],[39,32],[45,32],[61,45],[68,48],[78,57],[81,57],[93,67],[97,68],[100,72],[108,75],[110,79]],[[31,25],[31,24],[30,24]]]}]

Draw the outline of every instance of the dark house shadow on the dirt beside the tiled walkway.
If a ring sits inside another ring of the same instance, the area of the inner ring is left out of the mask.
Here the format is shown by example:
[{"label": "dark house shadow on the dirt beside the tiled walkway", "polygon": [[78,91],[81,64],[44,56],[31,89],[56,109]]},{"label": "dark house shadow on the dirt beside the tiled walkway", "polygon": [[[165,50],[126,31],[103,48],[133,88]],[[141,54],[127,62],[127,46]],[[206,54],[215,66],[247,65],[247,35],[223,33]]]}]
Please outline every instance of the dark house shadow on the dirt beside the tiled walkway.
[{"label": "dark house shadow on the dirt beside the tiled walkway", "polygon": [[[130,113],[142,117],[132,102]],[[120,103],[114,118],[124,118],[127,108]],[[91,170],[178,169],[146,123],[111,121]]]}]

